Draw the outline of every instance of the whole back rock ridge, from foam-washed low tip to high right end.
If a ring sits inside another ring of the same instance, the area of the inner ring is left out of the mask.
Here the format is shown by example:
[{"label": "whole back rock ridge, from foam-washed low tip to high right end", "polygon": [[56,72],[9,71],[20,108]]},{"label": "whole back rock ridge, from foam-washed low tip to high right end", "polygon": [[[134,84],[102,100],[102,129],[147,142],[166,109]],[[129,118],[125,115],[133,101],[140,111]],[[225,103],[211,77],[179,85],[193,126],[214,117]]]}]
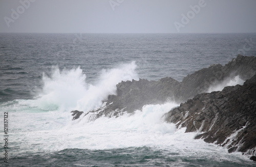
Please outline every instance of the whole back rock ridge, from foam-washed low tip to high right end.
[{"label": "whole back rock ridge, from foam-washed low tip to high right end", "polygon": [[[181,103],[206,92],[210,86],[218,84],[225,78],[239,75],[245,80],[254,74],[256,74],[256,57],[238,55],[225,66],[218,64],[203,68],[187,75],[182,82],[170,77],[158,81],[146,79],[122,81],[116,86],[117,94],[109,95],[102,107],[90,113],[94,113],[96,118],[117,117],[123,112],[133,113],[137,109],[140,110],[146,104],[161,104],[167,100]],[[74,119],[79,118],[77,116]]]}]

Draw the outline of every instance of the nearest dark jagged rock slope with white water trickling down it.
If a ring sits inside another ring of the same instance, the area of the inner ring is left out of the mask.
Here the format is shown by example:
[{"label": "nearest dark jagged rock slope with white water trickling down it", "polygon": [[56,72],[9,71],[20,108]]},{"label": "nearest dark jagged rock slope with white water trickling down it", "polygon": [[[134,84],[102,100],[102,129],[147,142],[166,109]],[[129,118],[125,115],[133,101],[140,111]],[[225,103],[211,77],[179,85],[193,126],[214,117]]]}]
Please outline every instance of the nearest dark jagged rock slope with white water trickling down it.
[{"label": "nearest dark jagged rock slope with white water trickling down it", "polygon": [[165,115],[167,122],[201,132],[196,138],[228,148],[256,154],[256,75],[243,86],[202,93],[181,103]]}]

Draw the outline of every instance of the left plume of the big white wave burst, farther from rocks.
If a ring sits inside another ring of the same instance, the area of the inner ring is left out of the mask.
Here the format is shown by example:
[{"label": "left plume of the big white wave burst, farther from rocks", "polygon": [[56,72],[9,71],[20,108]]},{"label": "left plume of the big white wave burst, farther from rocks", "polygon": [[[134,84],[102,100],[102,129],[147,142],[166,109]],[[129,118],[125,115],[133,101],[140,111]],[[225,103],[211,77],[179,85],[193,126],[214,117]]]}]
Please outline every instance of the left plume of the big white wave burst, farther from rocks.
[{"label": "left plume of the big white wave burst, farther from rocks", "polygon": [[87,91],[86,75],[80,67],[71,70],[60,71],[53,67],[51,76],[43,73],[42,81],[44,86],[36,100],[23,101],[31,107],[38,107],[42,110],[65,110],[76,106]]}]

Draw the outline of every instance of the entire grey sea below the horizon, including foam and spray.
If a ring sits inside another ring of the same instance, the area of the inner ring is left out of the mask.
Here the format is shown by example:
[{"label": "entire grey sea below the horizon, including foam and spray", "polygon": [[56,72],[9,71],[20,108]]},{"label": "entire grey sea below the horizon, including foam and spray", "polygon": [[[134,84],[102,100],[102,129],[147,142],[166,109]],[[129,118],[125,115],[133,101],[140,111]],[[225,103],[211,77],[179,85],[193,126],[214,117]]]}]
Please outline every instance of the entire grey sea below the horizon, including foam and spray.
[{"label": "entire grey sea below the horizon, including foam and spray", "polygon": [[182,81],[237,54],[256,55],[256,34],[0,33],[0,166],[255,166],[164,122],[172,101],[95,121],[70,113],[99,107],[122,80]]}]

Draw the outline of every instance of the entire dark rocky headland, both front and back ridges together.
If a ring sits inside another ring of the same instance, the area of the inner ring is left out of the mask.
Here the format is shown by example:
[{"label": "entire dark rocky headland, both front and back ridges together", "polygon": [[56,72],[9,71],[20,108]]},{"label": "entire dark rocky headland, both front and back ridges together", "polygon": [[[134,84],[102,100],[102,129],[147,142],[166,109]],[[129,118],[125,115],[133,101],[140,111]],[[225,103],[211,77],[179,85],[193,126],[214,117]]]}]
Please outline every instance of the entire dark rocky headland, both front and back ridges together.
[{"label": "entire dark rocky headland, both front and back ridges together", "polygon": [[[167,122],[186,127],[186,132],[201,132],[196,138],[255,155],[256,144],[256,57],[238,55],[228,64],[211,65],[183,78],[181,82],[165,77],[158,81],[146,79],[122,81],[116,95],[109,95],[102,106],[82,113],[73,111],[73,120],[90,115],[118,117],[133,113],[146,104],[166,101],[181,103],[165,115]],[[222,91],[205,93],[211,86],[239,76],[243,86],[225,87]],[[193,99],[191,99],[193,98]]]}]

